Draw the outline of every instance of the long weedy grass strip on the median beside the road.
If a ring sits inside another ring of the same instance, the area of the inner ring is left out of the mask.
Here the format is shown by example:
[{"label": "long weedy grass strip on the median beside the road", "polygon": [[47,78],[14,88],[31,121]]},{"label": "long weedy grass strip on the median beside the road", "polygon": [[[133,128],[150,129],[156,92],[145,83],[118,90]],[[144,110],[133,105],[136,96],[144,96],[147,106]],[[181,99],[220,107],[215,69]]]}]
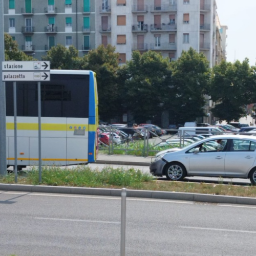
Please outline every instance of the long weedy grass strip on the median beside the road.
[{"label": "long weedy grass strip on the median beside the road", "polygon": [[[0,177],[0,183],[15,184],[15,175]],[[183,193],[198,193],[209,195],[225,195],[238,197],[256,197],[256,186],[236,186],[222,184],[157,181],[150,174],[142,173],[135,168],[113,168],[106,166],[102,171],[92,170],[88,166],[78,166],[74,169],[61,167],[42,167],[41,183],[38,169],[34,167],[26,175],[18,176],[17,184],[51,185],[72,187],[99,187],[172,191]]]}]

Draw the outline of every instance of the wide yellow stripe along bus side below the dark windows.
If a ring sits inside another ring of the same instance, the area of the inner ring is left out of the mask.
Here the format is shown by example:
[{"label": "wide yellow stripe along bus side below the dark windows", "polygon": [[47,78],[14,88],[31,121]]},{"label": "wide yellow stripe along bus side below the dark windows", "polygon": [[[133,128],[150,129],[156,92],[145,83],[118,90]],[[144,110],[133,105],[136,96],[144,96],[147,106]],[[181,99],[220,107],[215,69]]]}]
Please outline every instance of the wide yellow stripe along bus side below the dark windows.
[{"label": "wide yellow stripe along bus side below the dark windows", "polygon": [[[72,128],[71,128],[72,127]],[[61,124],[61,123],[41,123],[42,131],[74,131],[75,128],[82,130],[86,127],[86,131],[95,132],[96,124]],[[6,123],[7,130],[14,130],[14,123]],[[38,123],[17,123],[17,130],[34,130],[38,131]]]}]

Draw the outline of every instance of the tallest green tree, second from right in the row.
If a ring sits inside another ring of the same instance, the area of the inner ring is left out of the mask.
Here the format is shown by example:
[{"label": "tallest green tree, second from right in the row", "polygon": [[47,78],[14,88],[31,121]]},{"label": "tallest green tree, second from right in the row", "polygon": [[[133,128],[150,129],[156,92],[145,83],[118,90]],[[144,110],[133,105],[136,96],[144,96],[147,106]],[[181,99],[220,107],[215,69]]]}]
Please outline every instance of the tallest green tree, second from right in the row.
[{"label": "tallest green tree, second from right in the row", "polygon": [[205,94],[208,92],[209,62],[193,48],[182,51],[180,58],[170,62],[172,79],[165,91],[165,106],[176,123],[195,121],[205,116]]}]

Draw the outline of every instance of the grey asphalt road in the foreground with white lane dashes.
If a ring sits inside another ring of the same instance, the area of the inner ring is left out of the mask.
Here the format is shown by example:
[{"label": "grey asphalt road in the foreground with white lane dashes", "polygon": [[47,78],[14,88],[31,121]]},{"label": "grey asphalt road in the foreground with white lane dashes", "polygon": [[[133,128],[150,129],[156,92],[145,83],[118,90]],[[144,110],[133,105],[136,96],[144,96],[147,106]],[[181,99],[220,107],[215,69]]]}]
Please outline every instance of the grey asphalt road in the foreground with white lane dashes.
[{"label": "grey asphalt road in the foreground with white lane dashes", "polygon": [[[0,255],[120,255],[120,198],[0,191]],[[129,198],[126,256],[255,255],[253,206]]]}]

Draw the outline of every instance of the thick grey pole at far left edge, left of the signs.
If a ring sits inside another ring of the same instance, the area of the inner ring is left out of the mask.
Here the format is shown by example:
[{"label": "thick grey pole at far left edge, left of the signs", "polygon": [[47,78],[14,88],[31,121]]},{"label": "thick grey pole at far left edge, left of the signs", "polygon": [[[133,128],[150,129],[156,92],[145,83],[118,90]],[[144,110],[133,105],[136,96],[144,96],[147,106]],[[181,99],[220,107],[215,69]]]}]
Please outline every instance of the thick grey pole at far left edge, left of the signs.
[{"label": "thick grey pole at far left edge, left of the signs", "polygon": [[[2,25],[1,25],[2,24]],[[6,175],[6,104],[2,61],[5,60],[4,0],[0,0],[0,175]]]}]

